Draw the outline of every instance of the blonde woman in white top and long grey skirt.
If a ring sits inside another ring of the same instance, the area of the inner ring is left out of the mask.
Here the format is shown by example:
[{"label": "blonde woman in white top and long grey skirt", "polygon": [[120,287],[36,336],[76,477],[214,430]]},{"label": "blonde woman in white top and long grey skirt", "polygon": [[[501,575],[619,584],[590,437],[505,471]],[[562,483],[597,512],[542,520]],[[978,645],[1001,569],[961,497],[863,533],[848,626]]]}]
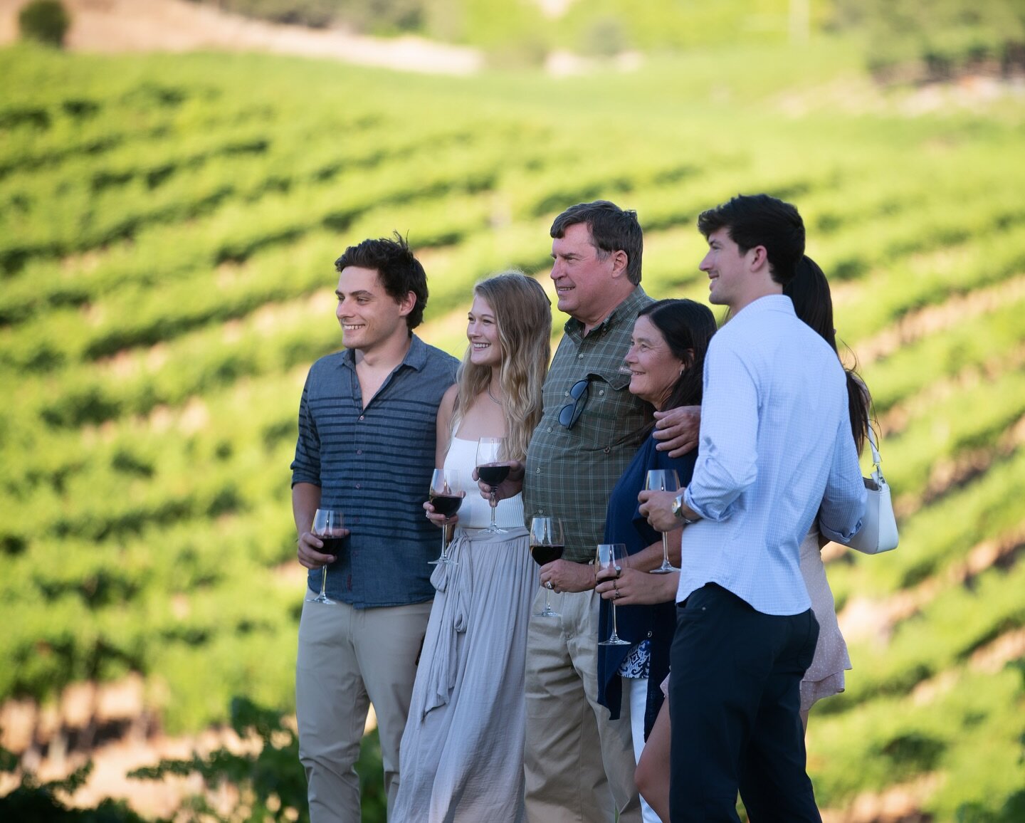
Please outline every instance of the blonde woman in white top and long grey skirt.
[{"label": "blonde woman in white top and long grey skirt", "polygon": [[541,286],[509,272],[478,283],[469,345],[438,412],[437,465],[460,469],[467,494],[451,558],[437,589],[400,747],[402,780],[391,820],[517,823],[523,807],[527,623],[537,591],[520,495],[495,511],[504,533],[485,531],[488,500],[470,480],[477,443],[505,438],[523,461],[541,416],[550,356],[551,307]]}]

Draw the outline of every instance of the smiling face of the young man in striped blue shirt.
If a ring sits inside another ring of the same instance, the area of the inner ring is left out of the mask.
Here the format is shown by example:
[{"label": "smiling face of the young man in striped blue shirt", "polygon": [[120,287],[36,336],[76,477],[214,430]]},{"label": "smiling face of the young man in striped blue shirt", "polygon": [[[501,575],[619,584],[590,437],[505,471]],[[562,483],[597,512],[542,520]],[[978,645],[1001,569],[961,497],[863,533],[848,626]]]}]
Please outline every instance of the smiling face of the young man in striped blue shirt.
[{"label": "smiling face of the young man in striped blue shirt", "polygon": [[341,326],[341,342],[363,354],[399,343],[409,336],[406,316],[416,302],[410,292],[397,301],[381,285],[377,270],[346,265],[338,275],[335,317]]}]

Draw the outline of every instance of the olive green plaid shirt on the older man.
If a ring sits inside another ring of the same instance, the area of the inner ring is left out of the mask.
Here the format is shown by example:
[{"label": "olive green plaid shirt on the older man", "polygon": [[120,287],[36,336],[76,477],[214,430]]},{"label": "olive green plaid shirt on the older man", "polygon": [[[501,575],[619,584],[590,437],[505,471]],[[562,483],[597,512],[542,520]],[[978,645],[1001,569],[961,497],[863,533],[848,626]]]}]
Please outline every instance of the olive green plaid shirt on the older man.
[{"label": "olive green plaid shirt on the older man", "polygon": [[[544,414],[527,449],[524,515],[563,521],[563,557],[591,560],[605,535],[605,511],[612,487],[641,447],[652,409],[629,392],[623,359],[638,312],[652,302],[640,286],[585,337],[583,324],[570,319],[544,380]],[[570,387],[586,378],[587,402],[572,428],[559,412],[572,404]],[[638,489],[640,492],[641,490]]]}]

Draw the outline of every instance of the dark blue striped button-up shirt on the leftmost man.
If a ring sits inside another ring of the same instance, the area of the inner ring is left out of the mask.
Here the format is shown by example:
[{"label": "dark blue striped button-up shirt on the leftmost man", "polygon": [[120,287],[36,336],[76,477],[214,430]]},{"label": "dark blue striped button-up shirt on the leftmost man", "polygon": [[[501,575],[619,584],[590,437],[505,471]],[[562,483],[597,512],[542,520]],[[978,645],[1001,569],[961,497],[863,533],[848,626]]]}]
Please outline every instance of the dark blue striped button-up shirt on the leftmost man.
[{"label": "dark blue striped button-up shirt on the leftmost man", "polygon": [[[321,487],[321,505],[340,508],[352,535],[328,567],[327,594],[357,609],[434,596],[427,561],[440,531],[423,517],[435,467],[438,405],[458,361],[415,335],[403,362],[363,408],[350,351],[310,369],[299,403],[292,485]],[[321,570],[310,588],[320,591]]]}]

